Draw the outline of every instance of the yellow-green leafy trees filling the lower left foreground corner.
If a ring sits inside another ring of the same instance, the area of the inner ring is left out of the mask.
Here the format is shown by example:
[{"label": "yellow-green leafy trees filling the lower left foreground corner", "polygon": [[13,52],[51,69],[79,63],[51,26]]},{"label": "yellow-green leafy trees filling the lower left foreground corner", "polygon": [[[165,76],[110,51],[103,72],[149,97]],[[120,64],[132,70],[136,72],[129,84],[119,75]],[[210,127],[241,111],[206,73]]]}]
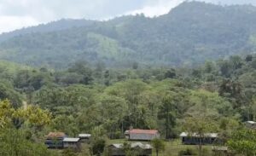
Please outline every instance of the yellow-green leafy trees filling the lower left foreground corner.
[{"label": "yellow-green leafy trees filling the lower left foreground corner", "polygon": [[50,123],[51,115],[36,106],[15,108],[7,100],[0,101],[0,155],[54,155],[39,142],[40,132]]}]

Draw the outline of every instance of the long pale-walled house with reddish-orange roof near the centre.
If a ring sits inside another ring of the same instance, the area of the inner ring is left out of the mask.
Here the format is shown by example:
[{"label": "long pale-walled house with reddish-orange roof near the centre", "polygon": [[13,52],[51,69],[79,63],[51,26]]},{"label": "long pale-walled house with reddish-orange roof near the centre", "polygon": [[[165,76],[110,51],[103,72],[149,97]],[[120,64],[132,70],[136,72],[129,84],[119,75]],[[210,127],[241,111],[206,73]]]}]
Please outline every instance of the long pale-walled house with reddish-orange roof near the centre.
[{"label": "long pale-walled house with reddish-orange roof near the centre", "polygon": [[131,129],[125,131],[125,138],[136,141],[151,141],[154,138],[159,138],[160,133],[158,130],[139,130]]}]

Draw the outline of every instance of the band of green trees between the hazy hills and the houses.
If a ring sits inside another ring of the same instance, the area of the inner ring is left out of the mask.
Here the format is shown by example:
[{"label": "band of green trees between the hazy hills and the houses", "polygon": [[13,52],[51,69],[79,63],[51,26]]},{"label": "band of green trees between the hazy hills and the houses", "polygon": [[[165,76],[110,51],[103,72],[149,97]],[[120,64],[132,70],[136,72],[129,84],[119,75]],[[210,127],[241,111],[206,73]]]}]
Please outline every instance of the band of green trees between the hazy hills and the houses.
[{"label": "band of green trees between the hazy hills and the houses", "polygon": [[[242,122],[256,118],[255,65],[255,55],[207,61],[193,69],[111,69],[79,61],[53,71],[3,61],[0,146],[8,146],[7,153],[20,142],[46,150],[32,142],[42,142],[47,132],[58,130],[68,136],[95,134],[98,149],[105,138],[123,138],[124,131],[133,127],[160,130],[166,139],[182,131],[218,132],[234,147],[233,133]],[[15,150],[24,149],[26,154],[27,147],[19,146]]]}]

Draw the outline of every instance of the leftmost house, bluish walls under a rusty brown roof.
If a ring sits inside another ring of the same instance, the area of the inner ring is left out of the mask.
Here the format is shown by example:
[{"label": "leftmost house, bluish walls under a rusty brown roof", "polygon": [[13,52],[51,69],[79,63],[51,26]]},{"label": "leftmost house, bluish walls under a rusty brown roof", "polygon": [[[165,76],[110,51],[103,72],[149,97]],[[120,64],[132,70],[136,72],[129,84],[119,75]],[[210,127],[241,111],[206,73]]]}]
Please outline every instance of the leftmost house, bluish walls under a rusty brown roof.
[{"label": "leftmost house, bluish walls under a rusty brown roof", "polygon": [[49,148],[62,148],[65,137],[66,134],[63,132],[49,132],[44,144]]}]

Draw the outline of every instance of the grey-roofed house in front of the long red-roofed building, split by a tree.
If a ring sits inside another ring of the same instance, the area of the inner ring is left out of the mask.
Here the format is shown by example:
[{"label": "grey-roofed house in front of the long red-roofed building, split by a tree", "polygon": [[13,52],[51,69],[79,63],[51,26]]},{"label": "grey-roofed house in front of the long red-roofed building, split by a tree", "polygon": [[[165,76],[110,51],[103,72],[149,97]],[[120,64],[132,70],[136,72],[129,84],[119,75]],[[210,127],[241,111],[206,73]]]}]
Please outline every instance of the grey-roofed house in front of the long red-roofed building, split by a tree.
[{"label": "grey-roofed house in front of the long red-roofed building, split by a tree", "polygon": [[[131,143],[131,151],[139,156],[151,156],[152,147],[149,144],[143,144],[141,142]],[[124,144],[116,143],[108,146],[108,153],[111,156],[125,156]]]}]

